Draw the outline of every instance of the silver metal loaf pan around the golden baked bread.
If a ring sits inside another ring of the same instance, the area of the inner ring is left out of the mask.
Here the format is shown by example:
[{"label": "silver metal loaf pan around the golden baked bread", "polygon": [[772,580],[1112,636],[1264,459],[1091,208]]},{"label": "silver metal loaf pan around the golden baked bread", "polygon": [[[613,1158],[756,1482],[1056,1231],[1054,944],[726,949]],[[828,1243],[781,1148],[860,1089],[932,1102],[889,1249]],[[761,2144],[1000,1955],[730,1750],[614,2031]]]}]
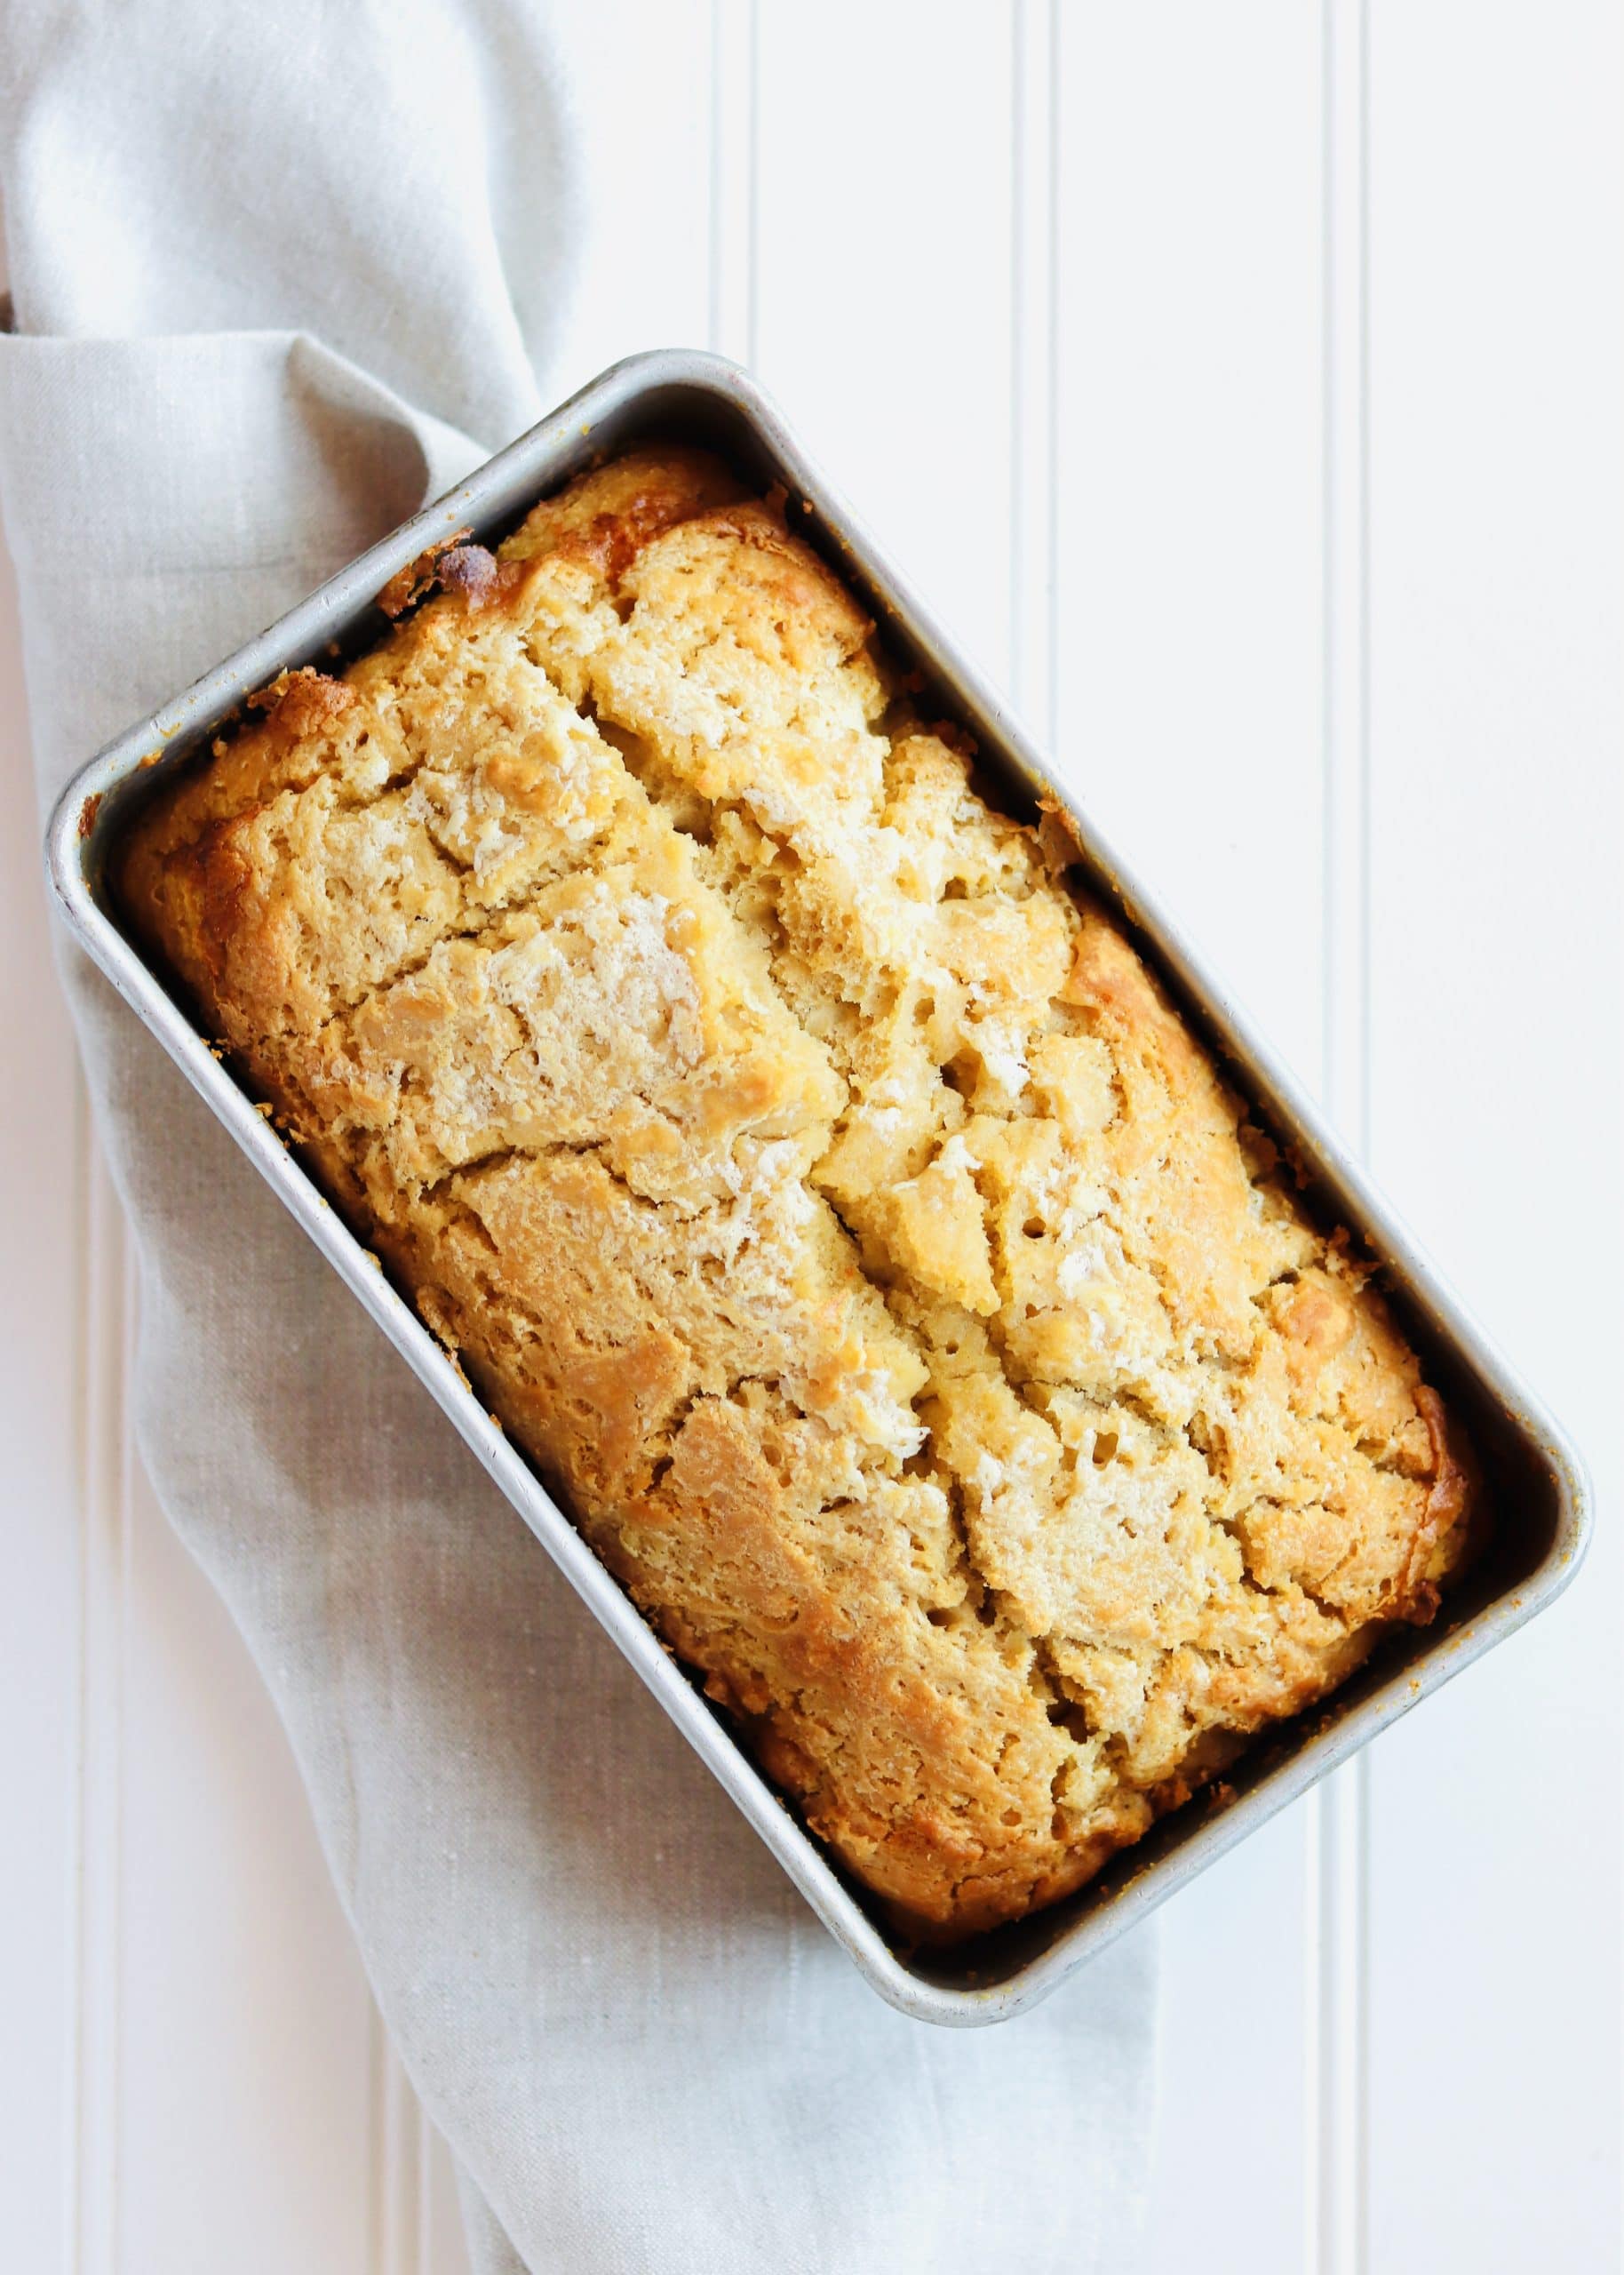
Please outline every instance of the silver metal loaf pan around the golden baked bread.
[{"label": "silver metal loaf pan around the golden baked bread", "polygon": [[[216,1062],[159,974],[123,935],[105,892],[107,844],[132,801],[207,744],[243,696],[293,664],[328,660],[334,648],[355,655],[375,642],[387,630],[375,594],[453,530],[471,528],[475,537],[496,541],[537,498],[596,460],[648,439],[701,441],[728,457],[746,480],[762,487],[782,482],[792,526],[864,596],[887,646],[926,673],[942,710],[969,728],[980,762],[1003,780],[1012,810],[1030,810],[1037,796],[1069,810],[1094,890],[1117,905],[1142,953],[1217,1051],[1228,1081],[1253,1101],[1276,1138],[1296,1151],[1312,1203],[1326,1219],[1349,1226],[1378,1258],[1383,1285],[1424,1354],[1431,1379],[1472,1431],[1492,1488],[1492,1545],[1431,1629],[1390,1636],[1344,1690],[1315,1713],[1260,1738],[1217,1795],[1174,1811],[1087,1888],[946,1952],[898,1945],[887,1934],[878,1904],[839,1870],[762,1779],[721,1713],[666,1656],[521,1454],[446,1365],[441,1347],[412,1306],[334,1210],[318,1201],[314,1183]],[[1008,703],[955,651],[753,380],[719,357],[660,350],[614,364],[196,687],[130,728],[64,792],[50,824],[48,867],[77,940],[416,1370],[873,1988],[910,2016],[955,2025],[996,2022],[1035,2004],[1176,1888],[1187,1886],[1203,1866],[1408,1713],[1428,1690],[1533,1618],[1579,1565],[1590,1497],[1583,1470],[1556,1424],[1463,1313],[1406,1226],[1251,1033],[1176,924],[1135,885],[1087,814],[1051,780]]]}]

